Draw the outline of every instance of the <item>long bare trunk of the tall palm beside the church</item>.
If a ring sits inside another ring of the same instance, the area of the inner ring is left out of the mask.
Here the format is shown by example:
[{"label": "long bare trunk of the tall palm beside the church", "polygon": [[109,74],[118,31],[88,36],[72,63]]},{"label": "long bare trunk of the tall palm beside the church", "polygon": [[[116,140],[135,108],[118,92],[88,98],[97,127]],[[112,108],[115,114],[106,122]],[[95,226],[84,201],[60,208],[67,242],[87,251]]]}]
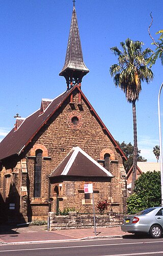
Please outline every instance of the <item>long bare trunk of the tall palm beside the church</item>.
[{"label": "long bare trunk of the tall palm beside the church", "polygon": [[135,100],[132,101],[132,116],[133,116],[133,169],[132,169],[131,194],[133,193],[134,182],[137,175],[137,156],[138,156],[137,113],[136,113]]}]

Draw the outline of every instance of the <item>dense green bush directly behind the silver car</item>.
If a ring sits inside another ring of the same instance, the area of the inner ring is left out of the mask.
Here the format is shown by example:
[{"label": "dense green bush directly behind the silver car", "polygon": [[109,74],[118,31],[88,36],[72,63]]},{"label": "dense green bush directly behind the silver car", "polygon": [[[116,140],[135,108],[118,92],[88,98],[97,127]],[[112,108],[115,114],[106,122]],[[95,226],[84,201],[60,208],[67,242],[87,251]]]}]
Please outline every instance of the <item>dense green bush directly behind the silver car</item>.
[{"label": "dense green bush directly behind the silver car", "polygon": [[160,172],[143,173],[135,181],[134,193],[127,200],[129,214],[135,214],[149,207],[160,206]]}]

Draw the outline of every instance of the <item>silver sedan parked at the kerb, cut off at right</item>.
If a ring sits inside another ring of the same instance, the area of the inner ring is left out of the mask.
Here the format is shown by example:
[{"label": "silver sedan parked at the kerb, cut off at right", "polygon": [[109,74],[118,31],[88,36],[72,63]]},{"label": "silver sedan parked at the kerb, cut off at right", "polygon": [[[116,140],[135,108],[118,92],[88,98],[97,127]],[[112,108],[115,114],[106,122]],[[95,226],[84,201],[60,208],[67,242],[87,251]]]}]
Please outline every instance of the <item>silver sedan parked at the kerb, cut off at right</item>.
[{"label": "silver sedan parked at the kerb, cut off at right", "polygon": [[123,218],[124,232],[149,233],[152,238],[160,238],[163,232],[163,207],[152,207]]}]

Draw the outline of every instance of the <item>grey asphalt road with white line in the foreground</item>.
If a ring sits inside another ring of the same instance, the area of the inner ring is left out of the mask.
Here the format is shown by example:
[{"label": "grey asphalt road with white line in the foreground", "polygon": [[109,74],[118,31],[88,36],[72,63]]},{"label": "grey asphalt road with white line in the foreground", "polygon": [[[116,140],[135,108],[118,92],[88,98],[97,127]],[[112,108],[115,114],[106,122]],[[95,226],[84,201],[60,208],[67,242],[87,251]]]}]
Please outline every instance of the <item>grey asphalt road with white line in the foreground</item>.
[{"label": "grey asphalt road with white line in the foreground", "polygon": [[0,255],[23,256],[126,256],[126,255],[163,255],[161,239],[107,239],[75,242],[1,245]]}]

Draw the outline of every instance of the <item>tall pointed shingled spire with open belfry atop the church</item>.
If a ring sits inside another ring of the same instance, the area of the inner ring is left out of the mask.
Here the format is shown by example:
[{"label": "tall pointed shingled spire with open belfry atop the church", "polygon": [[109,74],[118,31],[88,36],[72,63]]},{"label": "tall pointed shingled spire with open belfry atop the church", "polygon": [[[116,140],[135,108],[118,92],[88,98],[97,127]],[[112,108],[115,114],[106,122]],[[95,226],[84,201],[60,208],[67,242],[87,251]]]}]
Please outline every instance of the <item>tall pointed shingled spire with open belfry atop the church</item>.
[{"label": "tall pointed shingled spire with open belfry atop the church", "polygon": [[65,64],[59,74],[60,76],[65,77],[67,89],[76,83],[78,83],[80,86],[82,78],[89,72],[89,69],[86,67],[83,60],[82,46],[80,42],[74,2],[75,1],[73,1],[71,27],[68,38]]}]

